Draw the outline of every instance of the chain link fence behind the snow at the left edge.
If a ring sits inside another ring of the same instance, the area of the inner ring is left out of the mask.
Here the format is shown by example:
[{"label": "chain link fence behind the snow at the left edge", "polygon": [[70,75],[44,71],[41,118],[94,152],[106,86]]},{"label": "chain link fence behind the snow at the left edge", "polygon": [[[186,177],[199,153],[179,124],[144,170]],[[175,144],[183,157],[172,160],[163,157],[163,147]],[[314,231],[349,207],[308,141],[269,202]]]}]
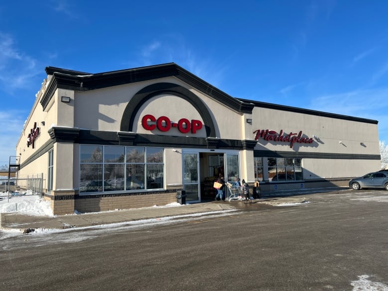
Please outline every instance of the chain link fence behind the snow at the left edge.
[{"label": "chain link fence behind the snow at the left edge", "polygon": [[0,177],[0,200],[9,201],[24,195],[43,196],[43,174],[27,175],[17,179]]}]

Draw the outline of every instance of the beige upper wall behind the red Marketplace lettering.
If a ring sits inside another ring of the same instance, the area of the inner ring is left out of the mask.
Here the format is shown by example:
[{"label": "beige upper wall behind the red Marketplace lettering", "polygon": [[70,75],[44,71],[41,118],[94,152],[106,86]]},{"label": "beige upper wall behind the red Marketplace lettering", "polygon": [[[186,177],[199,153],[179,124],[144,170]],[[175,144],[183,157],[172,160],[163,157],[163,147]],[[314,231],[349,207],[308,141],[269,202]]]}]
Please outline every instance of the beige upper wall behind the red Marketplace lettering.
[{"label": "beige upper wall behind the red Marketplace lettering", "polygon": [[[298,133],[320,140],[312,144],[295,143],[290,148],[289,143],[258,140],[256,149],[273,151],[294,151],[312,153],[339,154],[372,154],[379,155],[379,134],[376,124],[287,112],[268,108],[255,107],[252,114],[253,131],[270,129],[279,133]],[[254,138],[255,134],[252,133]],[[340,141],[342,143],[340,143]],[[360,143],[363,143],[361,145]]]}]

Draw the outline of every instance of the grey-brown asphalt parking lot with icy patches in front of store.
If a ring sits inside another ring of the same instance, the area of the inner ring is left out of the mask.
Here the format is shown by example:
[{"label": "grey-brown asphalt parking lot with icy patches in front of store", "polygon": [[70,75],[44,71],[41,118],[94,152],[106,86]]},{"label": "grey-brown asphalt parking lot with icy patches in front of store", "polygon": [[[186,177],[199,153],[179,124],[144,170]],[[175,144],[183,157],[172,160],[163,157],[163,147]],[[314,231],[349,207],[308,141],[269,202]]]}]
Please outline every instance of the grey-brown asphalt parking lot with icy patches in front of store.
[{"label": "grey-brown asphalt parking lot with icy patches in front of store", "polygon": [[388,192],[287,199],[235,201],[238,211],[170,223],[9,238],[0,282],[9,291],[388,291]]}]

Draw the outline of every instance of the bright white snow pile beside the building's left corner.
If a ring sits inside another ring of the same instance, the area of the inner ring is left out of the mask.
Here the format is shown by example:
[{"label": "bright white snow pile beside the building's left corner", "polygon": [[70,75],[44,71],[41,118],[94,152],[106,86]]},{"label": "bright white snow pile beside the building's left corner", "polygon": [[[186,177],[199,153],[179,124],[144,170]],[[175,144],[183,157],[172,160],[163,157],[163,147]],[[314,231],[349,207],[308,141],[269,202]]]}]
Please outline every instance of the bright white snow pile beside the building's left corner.
[{"label": "bright white snow pile beside the building's left corner", "polygon": [[[15,195],[17,194],[17,195]],[[0,213],[23,213],[28,215],[54,216],[50,202],[39,195],[32,195],[31,191],[25,193],[0,194]]]}]

